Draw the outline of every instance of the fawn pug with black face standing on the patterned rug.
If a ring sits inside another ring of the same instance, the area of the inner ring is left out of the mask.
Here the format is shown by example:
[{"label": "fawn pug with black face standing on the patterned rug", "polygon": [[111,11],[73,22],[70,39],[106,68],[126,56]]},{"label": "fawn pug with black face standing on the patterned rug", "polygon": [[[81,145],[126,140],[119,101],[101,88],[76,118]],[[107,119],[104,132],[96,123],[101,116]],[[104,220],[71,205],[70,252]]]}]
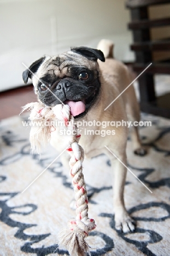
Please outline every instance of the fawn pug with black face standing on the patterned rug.
[{"label": "fawn pug with black face standing on the patterned rug", "polygon": [[[23,72],[24,82],[27,83],[28,78],[32,79],[38,101],[46,106],[68,104],[75,121],[107,121],[105,130],[110,131],[113,130],[110,121],[139,122],[139,106],[133,85],[125,90],[132,82],[130,71],[122,62],[113,58],[112,43],[102,41],[98,48],[80,46],[57,56],[43,56],[32,63],[30,70]],[[121,94],[122,91],[124,93]],[[85,128],[103,130],[103,127],[91,125]],[[108,155],[114,172],[115,228],[130,232],[135,229],[135,223],[127,213],[124,202],[128,127],[114,127],[114,131],[115,135],[106,134],[105,137],[95,133],[81,133],[79,143],[87,158],[103,153]],[[131,139],[134,154],[145,155],[137,126],[131,127]],[[51,144],[60,151],[55,141],[57,138],[51,137]],[[63,165],[68,165],[65,154],[62,155],[62,161]]]}]

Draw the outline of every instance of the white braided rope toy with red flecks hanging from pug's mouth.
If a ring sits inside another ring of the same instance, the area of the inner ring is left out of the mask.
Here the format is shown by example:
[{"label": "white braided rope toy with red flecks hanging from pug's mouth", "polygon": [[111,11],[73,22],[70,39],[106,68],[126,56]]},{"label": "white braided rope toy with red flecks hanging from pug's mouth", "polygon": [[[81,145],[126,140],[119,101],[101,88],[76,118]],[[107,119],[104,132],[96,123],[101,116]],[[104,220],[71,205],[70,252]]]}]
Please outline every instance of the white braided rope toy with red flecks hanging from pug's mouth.
[{"label": "white braided rope toy with red flecks hanging from pug's mouth", "polygon": [[[96,224],[95,220],[88,217],[88,198],[82,172],[84,150],[79,145],[81,135],[78,134],[77,127],[74,125],[74,118],[70,114],[70,108],[68,105],[63,104],[57,104],[55,107],[49,108],[40,102],[32,102],[26,104],[26,106],[22,108],[22,112],[26,109],[31,110],[31,121],[42,121],[42,125],[31,127],[30,142],[33,151],[37,150],[37,152],[40,153],[42,146],[45,146],[46,143],[50,141],[51,126],[43,125],[45,121],[63,121],[67,129],[74,131],[71,136],[67,136],[67,138],[63,139],[67,139],[67,143],[70,145],[67,148],[67,152],[71,155],[69,166],[71,167],[70,175],[75,192],[77,216],[75,219],[68,222],[68,229],[63,229],[59,232],[58,245],[66,247],[69,254],[72,256],[85,256],[87,253],[90,254],[89,246],[85,238],[91,230],[96,228]],[[72,121],[71,126],[68,126],[69,121]]]}]

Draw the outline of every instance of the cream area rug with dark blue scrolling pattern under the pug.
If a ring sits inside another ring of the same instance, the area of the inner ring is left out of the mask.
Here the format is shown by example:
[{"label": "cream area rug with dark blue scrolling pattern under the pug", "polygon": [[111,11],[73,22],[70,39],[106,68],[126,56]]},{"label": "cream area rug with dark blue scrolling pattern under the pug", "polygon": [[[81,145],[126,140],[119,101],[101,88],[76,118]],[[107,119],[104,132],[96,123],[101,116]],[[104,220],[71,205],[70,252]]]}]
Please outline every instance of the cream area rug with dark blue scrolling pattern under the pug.
[{"label": "cream area rug with dark blue scrolling pattern under the pug", "polygon": [[[57,248],[56,234],[75,217],[69,207],[74,192],[60,160],[21,194],[57,156],[50,146],[41,158],[30,154],[30,127],[21,123],[25,119],[23,115],[0,122],[0,255],[68,255],[64,248]],[[125,203],[137,220],[135,232],[115,230],[114,166],[110,167],[107,156],[84,162],[89,217],[97,224],[87,237],[92,256],[170,255],[170,120],[146,114],[142,120],[152,122],[151,127],[140,127],[148,155],[133,155],[128,139],[128,167],[153,194],[127,173]]]}]

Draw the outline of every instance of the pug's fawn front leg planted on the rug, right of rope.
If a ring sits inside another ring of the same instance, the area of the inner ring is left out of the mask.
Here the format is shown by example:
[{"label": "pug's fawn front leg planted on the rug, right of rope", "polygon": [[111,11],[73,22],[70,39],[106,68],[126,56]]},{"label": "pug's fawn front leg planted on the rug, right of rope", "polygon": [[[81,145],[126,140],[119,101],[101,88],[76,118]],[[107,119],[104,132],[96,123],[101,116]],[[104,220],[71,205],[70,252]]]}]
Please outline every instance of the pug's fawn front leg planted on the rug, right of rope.
[{"label": "pug's fawn front leg planted on the rug, right of rope", "polygon": [[[118,156],[119,159],[126,164],[126,153]],[[115,211],[115,228],[123,232],[134,230],[134,221],[128,215],[124,202],[124,187],[127,169],[118,159],[112,160],[112,168],[114,169],[114,211]]]}]

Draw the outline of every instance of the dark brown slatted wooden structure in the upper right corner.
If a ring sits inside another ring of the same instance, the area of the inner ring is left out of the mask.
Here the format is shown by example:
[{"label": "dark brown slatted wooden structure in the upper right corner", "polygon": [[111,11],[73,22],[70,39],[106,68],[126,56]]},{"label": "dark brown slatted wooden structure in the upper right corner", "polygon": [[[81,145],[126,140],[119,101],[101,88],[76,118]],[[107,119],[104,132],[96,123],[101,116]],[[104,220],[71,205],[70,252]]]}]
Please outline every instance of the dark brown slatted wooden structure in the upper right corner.
[{"label": "dark brown slatted wooden structure in the upper right corner", "polygon": [[[131,12],[131,22],[128,28],[133,33],[133,44],[131,50],[134,51],[136,62],[133,65],[133,70],[138,74],[141,73],[151,62],[151,65],[139,77],[139,92],[140,92],[140,109],[143,112],[162,117],[170,118],[170,84],[169,94],[161,97],[156,96],[154,75],[170,74],[170,60],[155,62],[153,60],[153,52],[155,51],[170,51],[170,39],[151,40],[150,28],[170,26],[169,17],[162,19],[149,19],[148,8],[150,5],[170,4],[170,0],[128,0],[126,7]],[[160,85],[161,86],[161,85]]]}]

